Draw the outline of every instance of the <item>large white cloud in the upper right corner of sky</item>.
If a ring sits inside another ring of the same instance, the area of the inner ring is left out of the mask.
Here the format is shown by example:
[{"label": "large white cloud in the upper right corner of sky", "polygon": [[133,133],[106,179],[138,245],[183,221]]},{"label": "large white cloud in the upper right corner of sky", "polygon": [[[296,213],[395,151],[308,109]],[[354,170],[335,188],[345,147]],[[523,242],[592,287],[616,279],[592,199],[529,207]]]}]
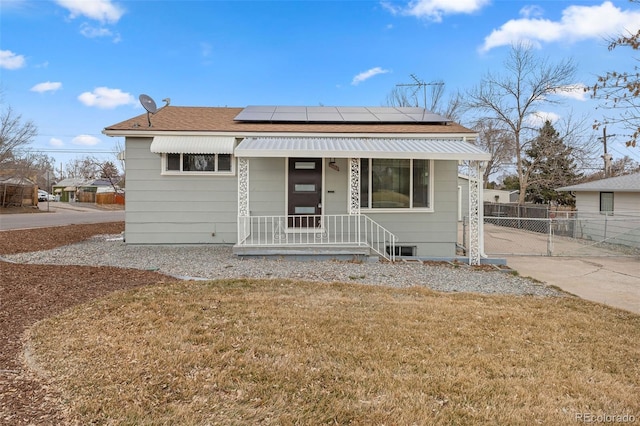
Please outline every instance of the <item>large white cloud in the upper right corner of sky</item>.
[{"label": "large white cloud in the upper right corner of sky", "polygon": [[635,30],[640,23],[640,11],[623,11],[610,1],[598,6],[569,6],[563,10],[559,21],[532,18],[534,14],[525,9],[521,13],[523,18],[507,21],[485,37],[480,50],[486,52],[523,41],[540,46],[544,42],[603,39]]}]

